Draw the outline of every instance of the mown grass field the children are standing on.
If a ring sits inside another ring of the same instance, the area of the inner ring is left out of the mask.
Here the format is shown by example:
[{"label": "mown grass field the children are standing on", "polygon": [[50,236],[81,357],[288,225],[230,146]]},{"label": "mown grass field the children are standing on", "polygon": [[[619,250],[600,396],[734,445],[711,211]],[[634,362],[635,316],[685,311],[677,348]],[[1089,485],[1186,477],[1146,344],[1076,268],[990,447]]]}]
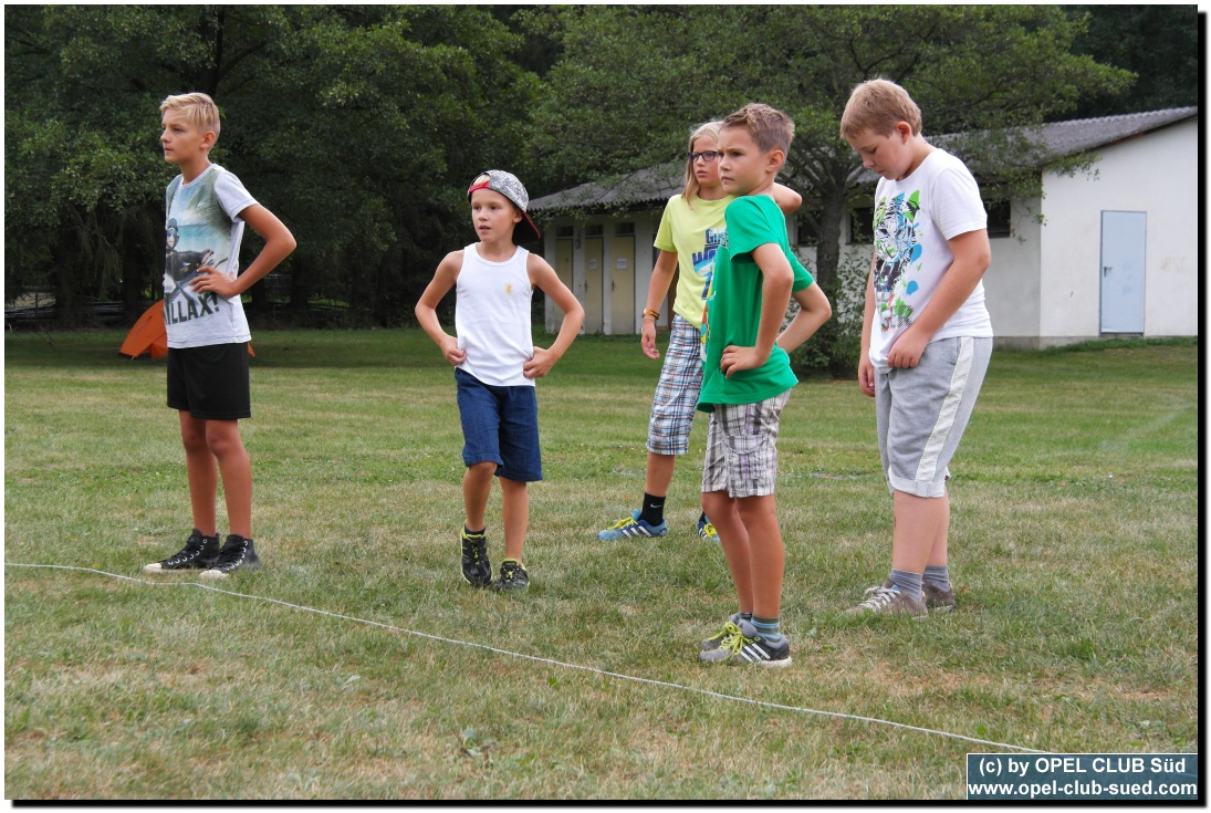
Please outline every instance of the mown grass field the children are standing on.
[{"label": "mown grass field the children are standing on", "polygon": [[[779,441],[794,665],[767,671],[695,659],[735,609],[694,529],[704,420],[670,536],[595,538],[642,491],[636,340],[581,338],[540,382],[532,588],[500,596],[458,572],[453,377],[419,331],[257,334],[265,566],[229,592],[144,578],[189,502],[163,362],[121,338],[5,337],[8,798],[963,798],[964,755],[1008,750],[796,709],[1198,750],[1193,343],[993,355],[952,465],[959,609],[925,622],[843,614],[890,559],[873,403],[802,383]],[[498,528],[499,489],[493,561]]]}]

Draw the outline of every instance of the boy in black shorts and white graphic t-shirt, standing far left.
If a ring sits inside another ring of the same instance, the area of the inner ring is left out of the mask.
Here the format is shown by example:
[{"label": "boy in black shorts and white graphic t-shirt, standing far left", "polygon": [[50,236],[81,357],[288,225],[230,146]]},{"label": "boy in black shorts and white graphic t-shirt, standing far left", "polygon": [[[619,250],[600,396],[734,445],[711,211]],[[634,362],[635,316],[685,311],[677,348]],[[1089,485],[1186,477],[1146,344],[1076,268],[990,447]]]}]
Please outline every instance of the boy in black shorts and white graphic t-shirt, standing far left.
[{"label": "boy in black shorts and white graphic t-shirt, standing far left", "polygon": [[[180,417],[194,529],[180,551],[143,569],[200,569],[203,577],[224,578],[260,563],[252,542],[252,463],[240,437],[240,419],[252,417],[251,336],[240,296],[295,242],[239,178],[211,164],[219,111],[210,96],[170,96],[160,111],[163,160],[180,168],[165,195],[163,321],[168,406]],[[245,223],[265,247],[240,274]],[[222,548],[214,511],[219,477],[230,525]]]}]

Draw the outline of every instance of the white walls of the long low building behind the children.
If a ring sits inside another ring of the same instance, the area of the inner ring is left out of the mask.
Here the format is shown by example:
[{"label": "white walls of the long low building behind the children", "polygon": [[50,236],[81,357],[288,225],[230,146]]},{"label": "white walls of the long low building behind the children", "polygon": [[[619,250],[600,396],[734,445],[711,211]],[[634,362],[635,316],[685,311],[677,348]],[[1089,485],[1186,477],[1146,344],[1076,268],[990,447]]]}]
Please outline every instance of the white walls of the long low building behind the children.
[{"label": "white walls of the long low building behind the children", "polygon": [[[1044,348],[1098,338],[1102,211],[1147,212],[1144,336],[1198,336],[1199,160],[1198,119],[1190,119],[1102,149],[1087,173],[1044,173],[1041,199],[1014,201],[1012,235],[991,239],[992,264],[983,282],[997,344]],[[606,325],[597,330],[608,326],[610,332],[625,333],[630,327],[638,332],[660,213],[589,218],[589,223],[606,227],[607,257],[613,224],[618,219],[635,222],[635,314],[627,320],[609,313],[607,263],[602,275]],[[584,303],[580,245],[585,222],[561,218],[547,223],[546,257],[553,264],[555,229],[568,224],[575,224],[574,291]],[[815,250],[797,246],[796,251],[808,268],[815,267]],[[842,246],[843,254],[853,251],[868,254],[869,247]],[[547,299],[547,330],[558,330],[559,319],[558,308]]]}]

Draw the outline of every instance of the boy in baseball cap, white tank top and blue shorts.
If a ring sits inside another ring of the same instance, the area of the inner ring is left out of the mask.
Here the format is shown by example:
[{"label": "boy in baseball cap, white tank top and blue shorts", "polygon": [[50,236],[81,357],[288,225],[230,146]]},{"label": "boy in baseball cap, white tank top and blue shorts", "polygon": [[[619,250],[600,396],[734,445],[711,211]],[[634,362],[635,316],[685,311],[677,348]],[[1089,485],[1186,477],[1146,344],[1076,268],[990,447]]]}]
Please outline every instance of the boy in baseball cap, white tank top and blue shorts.
[{"label": "boy in baseball cap, white tank top and blue shorts", "polygon": [[[459,534],[463,578],[474,588],[524,590],[529,586],[522,563],[529,523],[527,483],[543,479],[534,382],[567,351],[585,311],[546,260],[517,245],[541,237],[526,213],[529,195],[521,181],[488,170],[471,182],[466,194],[480,241],[437,264],[417,303],[417,321],[454,366],[466,464],[466,519]],[[437,305],[450,288],[455,290],[457,336],[447,333],[437,319]],[[563,311],[559,333],[547,349],[534,347],[530,334],[534,288]],[[505,529],[505,557],[495,582],[484,516],[493,475],[500,479]]]}]

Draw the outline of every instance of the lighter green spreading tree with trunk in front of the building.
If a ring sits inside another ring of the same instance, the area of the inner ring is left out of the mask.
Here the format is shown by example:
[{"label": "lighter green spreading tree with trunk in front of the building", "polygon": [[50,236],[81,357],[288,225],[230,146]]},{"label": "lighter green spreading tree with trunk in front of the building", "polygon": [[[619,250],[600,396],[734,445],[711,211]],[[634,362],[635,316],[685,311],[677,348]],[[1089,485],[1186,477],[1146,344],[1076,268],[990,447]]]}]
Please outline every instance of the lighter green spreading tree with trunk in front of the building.
[{"label": "lighter green spreading tree with trunk in front of the building", "polygon": [[903,85],[926,134],[988,131],[959,147],[999,143],[980,156],[995,172],[1012,168],[1006,148],[1022,148],[1008,128],[1127,81],[1073,53],[1084,19],[1054,6],[587,6],[528,22],[563,46],[535,110],[539,160],[553,177],[581,182],[667,161],[691,125],[746,102],[788,113],[797,134],[782,178],[804,196],[826,287],[861,174],[838,133],[856,84]]}]

